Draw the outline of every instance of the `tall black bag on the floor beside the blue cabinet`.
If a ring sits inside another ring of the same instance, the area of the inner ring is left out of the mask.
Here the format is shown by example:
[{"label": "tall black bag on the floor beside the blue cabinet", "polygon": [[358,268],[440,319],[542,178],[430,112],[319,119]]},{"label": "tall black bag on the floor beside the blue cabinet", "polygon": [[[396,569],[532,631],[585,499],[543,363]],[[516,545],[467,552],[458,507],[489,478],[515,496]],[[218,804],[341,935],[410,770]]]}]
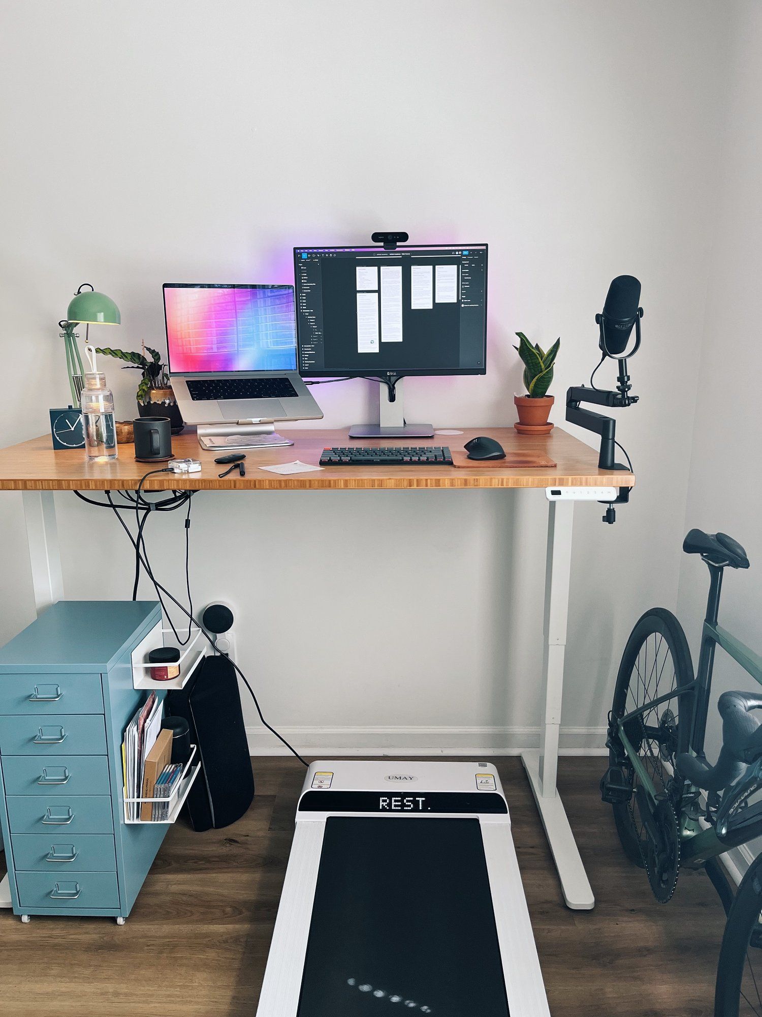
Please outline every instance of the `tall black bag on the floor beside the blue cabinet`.
[{"label": "tall black bag on the floor beside the blue cabinet", "polygon": [[167,694],[165,713],[184,717],[198,746],[201,772],[186,799],[193,829],[218,830],[240,820],[254,798],[254,775],[230,660],[205,657],[185,689]]}]

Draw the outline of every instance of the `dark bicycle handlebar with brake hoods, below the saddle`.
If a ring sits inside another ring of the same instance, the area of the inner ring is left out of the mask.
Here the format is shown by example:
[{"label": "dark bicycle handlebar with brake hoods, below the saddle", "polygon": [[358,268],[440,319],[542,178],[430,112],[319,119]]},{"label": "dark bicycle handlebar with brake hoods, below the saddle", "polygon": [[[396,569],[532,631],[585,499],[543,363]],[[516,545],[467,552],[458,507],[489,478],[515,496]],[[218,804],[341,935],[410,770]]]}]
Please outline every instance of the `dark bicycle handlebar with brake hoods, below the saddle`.
[{"label": "dark bicycle handlebar with brake hoods, below the saddle", "polygon": [[762,756],[762,728],[750,712],[760,708],[762,696],[723,693],[717,702],[722,718],[722,747],[716,765],[681,753],[676,762],[683,776],[704,791],[722,791],[737,781],[747,766]]}]

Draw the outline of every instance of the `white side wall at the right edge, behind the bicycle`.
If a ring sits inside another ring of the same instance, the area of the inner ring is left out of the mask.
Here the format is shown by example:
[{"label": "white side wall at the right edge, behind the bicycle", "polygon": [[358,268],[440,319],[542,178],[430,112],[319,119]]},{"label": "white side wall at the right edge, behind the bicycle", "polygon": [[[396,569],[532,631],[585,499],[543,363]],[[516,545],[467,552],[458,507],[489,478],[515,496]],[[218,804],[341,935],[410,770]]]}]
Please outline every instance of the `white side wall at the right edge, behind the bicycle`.
[{"label": "white side wall at the right edge, behind the bicycle", "polygon": [[[686,531],[697,526],[739,540],[749,572],[725,570],[720,623],[762,652],[762,412],[758,395],[762,345],[756,335],[762,277],[762,7],[735,4],[731,21],[728,114],[722,134],[721,186],[711,253],[701,369],[693,431]],[[679,615],[698,660],[708,577],[696,557],[680,571]],[[718,652],[713,693],[756,689]],[[719,718],[710,707],[707,756],[721,744]]]}]

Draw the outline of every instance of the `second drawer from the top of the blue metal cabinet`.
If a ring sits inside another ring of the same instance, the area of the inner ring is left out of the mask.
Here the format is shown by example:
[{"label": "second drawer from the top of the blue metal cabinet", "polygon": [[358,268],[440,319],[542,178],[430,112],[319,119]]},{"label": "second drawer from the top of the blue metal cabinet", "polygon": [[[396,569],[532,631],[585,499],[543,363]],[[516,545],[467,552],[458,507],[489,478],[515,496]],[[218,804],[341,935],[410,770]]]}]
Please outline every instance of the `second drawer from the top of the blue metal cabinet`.
[{"label": "second drawer from the top of the blue metal cabinet", "polygon": [[0,753],[3,756],[104,756],[106,725],[103,715],[0,717]]}]

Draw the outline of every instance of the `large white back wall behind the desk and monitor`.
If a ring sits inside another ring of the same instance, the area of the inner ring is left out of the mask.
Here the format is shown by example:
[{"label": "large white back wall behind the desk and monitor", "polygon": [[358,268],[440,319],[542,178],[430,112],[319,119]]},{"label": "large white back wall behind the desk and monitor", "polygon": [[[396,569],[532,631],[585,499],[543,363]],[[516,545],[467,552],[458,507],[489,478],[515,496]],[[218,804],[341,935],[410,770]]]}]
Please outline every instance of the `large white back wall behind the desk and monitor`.
[{"label": "large white back wall behind the desk and monitor", "polygon": [[[517,330],[561,335],[558,398],[584,380],[610,280],[641,279],[641,402],[620,425],[637,491],[615,527],[596,505],[576,512],[564,743],[599,744],[633,619],[677,598],[723,12],[11,0],[0,19],[5,442],[42,433],[66,398],[56,322],[83,281],[122,310],[113,343],[161,347],[168,280],[289,281],[293,245],[384,227],[486,240],[488,375],[407,382],[408,416],[452,426],[512,423]],[[112,366],[109,379],[132,416],[134,375]],[[316,392],[327,426],[372,412],[362,380]],[[113,520],[57,501],[66,595],[128,597]],[[19,499],[0,511],[6,638],[33,611]],[[530,744],[546,513],[539,492],[200,494],[196,601],[235,602],[241,664],[306,749]],[[156,571],[179,590],[180,522],[151,524]]]}]

